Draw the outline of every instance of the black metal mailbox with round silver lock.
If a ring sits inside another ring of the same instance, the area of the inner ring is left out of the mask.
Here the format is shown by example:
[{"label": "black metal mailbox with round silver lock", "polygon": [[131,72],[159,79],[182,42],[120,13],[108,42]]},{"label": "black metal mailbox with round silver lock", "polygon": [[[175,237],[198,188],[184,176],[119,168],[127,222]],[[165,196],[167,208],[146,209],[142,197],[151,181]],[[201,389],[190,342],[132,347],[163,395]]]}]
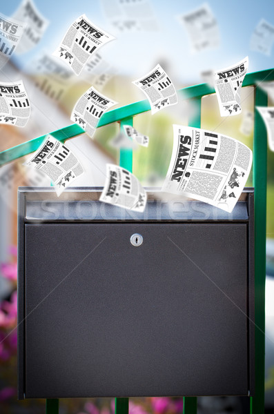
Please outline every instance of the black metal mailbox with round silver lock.
[{"label": "black metal mailbox with round silver lock", "polygon": [[252,395],[253,189],[100,194],[19,188],[19,398]]}]

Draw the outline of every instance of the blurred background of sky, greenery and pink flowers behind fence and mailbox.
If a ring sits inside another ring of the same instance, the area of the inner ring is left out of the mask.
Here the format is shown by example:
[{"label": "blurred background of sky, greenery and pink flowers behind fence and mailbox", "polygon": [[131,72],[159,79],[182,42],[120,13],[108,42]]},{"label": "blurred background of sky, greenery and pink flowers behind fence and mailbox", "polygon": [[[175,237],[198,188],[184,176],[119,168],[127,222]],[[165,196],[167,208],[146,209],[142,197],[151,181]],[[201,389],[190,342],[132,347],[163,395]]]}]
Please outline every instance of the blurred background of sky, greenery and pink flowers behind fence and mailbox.
[{"label": "blurred background of sky, greenery and pink flowers behind fence and mailbox", "polygon": [[[135,2],[135,4],[133,4]],[[1,2],[0,14],[16,15],[28,1]],[[157,63],[168,73],[175,88],[203,83],[202,72],[226,68],[249,57],[248,72],[274,67],[273,38],[263,39],[268,52],[251,50],[251,38],[261,19],[274,26],[274,3],[268,0],[223,1],[207,4],[217,27],[214,48],[193,52],[193,43],[180,16],[202,6],[202,2],[184,0],[80,0],[30,2],[34,14],[46,22],[39,41],[15,52],[0,69],[0,83],[23,79],[31,102],[31,116],[25,128],[0,124],[0,151],[29,139],[72,124],[70,114],[75,102],[91,85],[118,102],[117,107],[145,99],[132,81],[149,72]],[[136,8],[130,9],[131,6]],[[130,11],[131,10],[131,11]],[[81,14],[116,37],[102,47],[76,77],[58,58],[52,57],[70,24]],[[21,14],[35,30],[28,14]],[[40,39],[41,37],[41,39]],[[23,39],[22,39],[23,41]],[[269,99],[269,106],[274,102]],[[202,99],[202,128],[215,130],[253,146],[253,125],[246,113],[253,112],[253,88],[242,89],[242,113],[228,118],[219,116],[216,95]],[[187,125],[195,108],[179,95],[177,106],[151,116],[135,117],[134,126],[148,135],[148,148],[138,147],[133,155],[133,173],[144,186],[161,186],[173,146],[172,124]],[[73,186],[104,186],[106,163],[118,163],[119,152],[110,140],[119,132],[118,124],[98,128],[93,139],[83,134],[67,141],[81,160],[86,173]],[[17,188],[24,185],[50,185],[45,177],[35,175],[19,159],[0,168],[0,413],[44,413],[44,401],[17,402]],[[252,173],[252,172],[251,172]],[[1,179],[1,177],[8,177]],[[251,186],[251,177],[246,186]],[[267,192],[267,278],[266,278],[266,412],[274,412],[274,154],[268,150]],[[8,335],[9,334],[9,335]],[[6,336],[8,337],[6,338]],[[6,339],[4,339],[6,338]],[[63,414],[110,414],[113,401],[62,400]],[[202,397],[199,413],[247,413],[248,402],[236,397]],[[133,399],[130,414],[181,413],[182,399]]]}]

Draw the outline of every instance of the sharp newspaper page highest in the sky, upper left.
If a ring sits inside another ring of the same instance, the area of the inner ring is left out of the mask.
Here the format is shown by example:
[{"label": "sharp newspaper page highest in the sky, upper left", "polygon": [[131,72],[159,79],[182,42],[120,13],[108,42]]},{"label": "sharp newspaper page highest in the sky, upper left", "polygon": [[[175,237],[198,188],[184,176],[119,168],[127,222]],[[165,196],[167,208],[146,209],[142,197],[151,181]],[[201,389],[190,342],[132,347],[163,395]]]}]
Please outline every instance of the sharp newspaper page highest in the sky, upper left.
[{"label": "sharp newspaper page highest in the sky, upper left", "polygon": [[113,39],[114,36],[95,26],[86,14],[82,14],[68,28],[61,45],[52,55],[62,59],[79,75],[92,53]]}]

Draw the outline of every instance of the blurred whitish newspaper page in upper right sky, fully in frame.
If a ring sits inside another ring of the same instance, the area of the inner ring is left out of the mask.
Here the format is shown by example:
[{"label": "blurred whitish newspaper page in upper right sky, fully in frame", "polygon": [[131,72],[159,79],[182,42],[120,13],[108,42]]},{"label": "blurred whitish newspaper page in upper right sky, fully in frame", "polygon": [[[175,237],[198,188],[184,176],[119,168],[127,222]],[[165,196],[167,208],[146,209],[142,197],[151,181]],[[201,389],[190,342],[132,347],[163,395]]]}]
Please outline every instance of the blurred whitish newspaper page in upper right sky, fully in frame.
[{"label": "blurred whitish newspaper page in upper right sky, fully in frame", "polygon": [[219,27],[208,3],[203,3],[177,19],[186,28],[193,53],[219,47]]}]

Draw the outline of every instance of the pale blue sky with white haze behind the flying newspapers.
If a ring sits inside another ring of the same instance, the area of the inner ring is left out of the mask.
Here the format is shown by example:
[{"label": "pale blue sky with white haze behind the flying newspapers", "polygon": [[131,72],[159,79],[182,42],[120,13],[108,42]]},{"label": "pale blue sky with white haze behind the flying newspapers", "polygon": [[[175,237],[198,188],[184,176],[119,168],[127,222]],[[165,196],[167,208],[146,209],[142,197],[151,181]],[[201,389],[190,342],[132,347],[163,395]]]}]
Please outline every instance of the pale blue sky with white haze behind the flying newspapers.
[{"label": "pale blue sky with white haze behind the flying newspapers", "polygon": [[[20,3],[21,0],[1,1],[0,12],[9,16]],[[274,26],[274,1],[208,1],[219,23],[221,46],[196,55],[191,54],[186,31],[175,17],[197,8],[203,1],[150,0],[150,3],[159,23],[159,31],[120,34],[114,32],[106,21],[100,0],[35,0],[50,25],[39,45],[17,59],[23,65],[41,50],[53,52],[70,23],[85,13],[95,24],[115,35],[117,39],[101,48],[101,54],[117,67],[120,74],[132,79],[141,77],[157,61],[163,60],[168,63],[170,75],[173,74],[181,83],[177,87],[200,83],[202,70],[231,66],[246,55],[249,57],[248,72],[273,68],[274,51],[271,57],[253,52],[249,49],[249,41],[262,17]]]}]

